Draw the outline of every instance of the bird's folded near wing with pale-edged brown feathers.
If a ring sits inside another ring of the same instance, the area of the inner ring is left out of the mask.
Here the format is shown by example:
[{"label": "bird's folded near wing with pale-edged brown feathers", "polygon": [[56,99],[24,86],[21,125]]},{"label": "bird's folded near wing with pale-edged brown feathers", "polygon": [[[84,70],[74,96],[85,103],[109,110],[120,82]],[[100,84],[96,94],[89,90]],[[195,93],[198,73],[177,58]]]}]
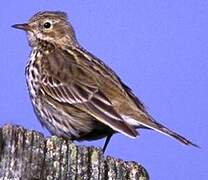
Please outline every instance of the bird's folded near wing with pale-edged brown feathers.
[{"label": "bird's folded near wing with pale-edged brown feathers", "polygon": [[44,58],[43,94],[65,105],[73,104],[115,131],[130,137],[137,136],[137,131],[125,123],[99,89],[93,71],[80,67],[73,54],[57,49]]}]

